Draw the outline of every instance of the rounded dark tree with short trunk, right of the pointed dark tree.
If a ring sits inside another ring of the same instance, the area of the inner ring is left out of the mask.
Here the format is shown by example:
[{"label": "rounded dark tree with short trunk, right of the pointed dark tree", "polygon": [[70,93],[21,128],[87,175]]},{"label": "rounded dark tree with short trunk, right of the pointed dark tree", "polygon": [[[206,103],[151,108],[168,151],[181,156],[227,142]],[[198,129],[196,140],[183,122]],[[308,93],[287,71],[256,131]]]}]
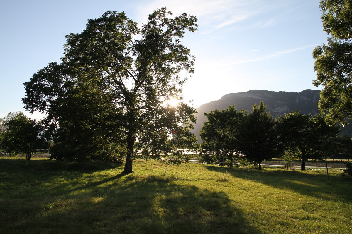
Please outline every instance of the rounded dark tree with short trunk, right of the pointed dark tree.
[{"label": "rounded dark tree with short trunk, right of the pointed dark tree", "polygon": [[301,160],[302,171],[306,169],[308,159],[322,159],[337,147],[335,141],[339,128],[328,125],[322,114],[312,116],[300,111],[291,112],[279,118],[278,126],[285,151]]}]

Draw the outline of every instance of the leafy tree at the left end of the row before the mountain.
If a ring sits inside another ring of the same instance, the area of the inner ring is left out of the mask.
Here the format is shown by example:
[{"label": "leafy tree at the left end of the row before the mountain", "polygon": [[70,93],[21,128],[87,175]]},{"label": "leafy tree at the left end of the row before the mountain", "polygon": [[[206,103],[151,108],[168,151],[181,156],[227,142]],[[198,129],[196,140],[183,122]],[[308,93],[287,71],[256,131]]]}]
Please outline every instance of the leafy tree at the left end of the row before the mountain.
[{"label": "leafy tree at the left end of the row before the mountain", "polygon": [[237,112],[235,106],[229,106],[222,111],[214,110],[204,115],[208,121],[203,123],[200,132],[203,140],[202,161],[232,167],[235,160],[238,160],[238,134],[247,113],[243,110]]}]

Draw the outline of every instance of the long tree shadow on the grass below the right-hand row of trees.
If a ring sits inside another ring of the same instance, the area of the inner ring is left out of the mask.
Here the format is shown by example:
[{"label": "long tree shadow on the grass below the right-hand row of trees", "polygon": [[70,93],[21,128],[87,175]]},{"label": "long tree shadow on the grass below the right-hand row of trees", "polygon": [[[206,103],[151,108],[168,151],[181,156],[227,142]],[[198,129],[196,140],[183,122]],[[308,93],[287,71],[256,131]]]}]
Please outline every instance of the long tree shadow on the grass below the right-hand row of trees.
[{"label": "long tree shadow on the grass below the right-hand row of trees", "polygon": [[[222,173],[220,167],[210,165],[206,167]],[[333,197],[346,202],[352,201],[352,181],[343,179],[341,175],[329,173],[330,184],[328,184],[326,171],[315,171],[314,174],[310,174],[308,170],[302,172],[299,170],[227,168],[227,173],[235,178],[259,182],[315,198],[329,200]]]}]

